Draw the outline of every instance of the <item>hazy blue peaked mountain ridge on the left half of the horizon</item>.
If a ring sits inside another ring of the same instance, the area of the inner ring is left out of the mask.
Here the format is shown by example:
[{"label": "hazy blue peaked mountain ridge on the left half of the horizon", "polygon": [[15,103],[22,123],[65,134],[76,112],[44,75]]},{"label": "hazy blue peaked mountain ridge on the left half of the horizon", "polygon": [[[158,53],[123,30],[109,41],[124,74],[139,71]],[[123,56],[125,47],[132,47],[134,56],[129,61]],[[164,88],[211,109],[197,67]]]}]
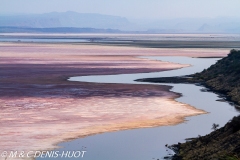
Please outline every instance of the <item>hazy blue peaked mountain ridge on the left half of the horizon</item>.
[{"label": "hazy blue peaked mountain ridge on the left half of the horizon", "polygon": [[0,16],[1,27],[124,29],[130,25],[124,17],[71,11]]}]

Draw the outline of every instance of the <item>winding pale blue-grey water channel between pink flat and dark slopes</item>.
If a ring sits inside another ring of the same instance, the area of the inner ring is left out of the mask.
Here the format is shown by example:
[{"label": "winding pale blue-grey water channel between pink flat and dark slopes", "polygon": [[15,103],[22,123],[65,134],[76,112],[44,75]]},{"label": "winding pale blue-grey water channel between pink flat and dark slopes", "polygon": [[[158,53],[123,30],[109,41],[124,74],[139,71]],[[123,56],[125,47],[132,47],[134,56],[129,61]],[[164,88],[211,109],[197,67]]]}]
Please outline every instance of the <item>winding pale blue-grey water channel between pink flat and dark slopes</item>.
[{"label": "winding pale blue-grey water channel between pink flat and dark slopes", "polygon": [[[218,59],[201,59],[188,57],[142,57],[157,59],[192,66],[177,70],[140,73],[120,74],[106,76],[83,76],[71,77],[71,81],[87,81],[94,83],[128,83],[128,84],[152,84],[135,82],[138,78],[166,77],[192,74],[202,71],[214,64]],[[187,117],[184,123],[175,126],[162,126],[154,128],[132,129],[118,132],[110,132],[87,136],[73,141],[59,144],[58,151],[86,150],[85,160],[152,160],[163,159],[172,154],[165,144],[184,142],[186,138],[197,137],[211,132],[213,123],[223,126],[239,112],[227,102],[216,101],[218,95],[211,92],[200,91],[204,87],[193,84],[165,84],[173,86],[172,91],[181,93],[176,100],[190,104],[198,109],[205,110],[208,114]],[[167,106],[166,106],[167,107]],[[72,158],[76,159],[76,158]]]}]

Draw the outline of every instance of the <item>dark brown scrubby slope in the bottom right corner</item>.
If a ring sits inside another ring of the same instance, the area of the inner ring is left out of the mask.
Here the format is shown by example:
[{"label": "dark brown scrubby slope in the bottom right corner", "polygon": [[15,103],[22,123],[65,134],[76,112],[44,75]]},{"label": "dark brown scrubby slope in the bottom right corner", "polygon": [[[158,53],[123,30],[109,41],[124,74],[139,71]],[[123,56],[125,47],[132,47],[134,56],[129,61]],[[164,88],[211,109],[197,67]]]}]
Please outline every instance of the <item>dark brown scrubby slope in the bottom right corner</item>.
[{"label": "dark brown scrubby slope in the bottom right corner", "polygon": [[240,159],[240,116],[224,127],[186,143],[170,147],[176,151],[172,160],[238,160]]}]

